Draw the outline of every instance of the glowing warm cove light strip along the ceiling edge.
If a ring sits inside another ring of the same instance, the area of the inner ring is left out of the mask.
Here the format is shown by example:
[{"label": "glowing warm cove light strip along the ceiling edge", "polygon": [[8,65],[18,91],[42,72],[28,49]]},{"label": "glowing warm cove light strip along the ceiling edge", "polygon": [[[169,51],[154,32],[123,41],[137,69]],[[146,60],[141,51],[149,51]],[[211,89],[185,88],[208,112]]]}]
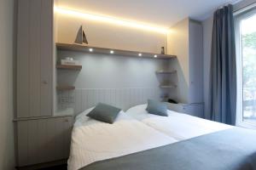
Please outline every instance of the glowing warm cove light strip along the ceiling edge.
[{"label": "glowing warm cove light strip along the ceiling edge", "polygon": [[99,22],[106,22],[106,23],[119,25],[119,26],[138,28],[138,29],[146,30],[146,31],[155,31],[155,32],[163,33],[163,34],[167,34],[169,32],[169,29],[164,28],[164,27],[148,26],[148,25],[143,25],[143,24],[139,24],[136,22],[126,21],[126,20],[118,20],[118,19],[113,19],[113,18],[109,18],[106,16],[96,15],[96,14],[81,13],[78,11],[65,9],[65,8],[55,7],[55,12],[57,12],[59,14],[73,15],[75,17],[82,17],[87,20],[96,20]]}]

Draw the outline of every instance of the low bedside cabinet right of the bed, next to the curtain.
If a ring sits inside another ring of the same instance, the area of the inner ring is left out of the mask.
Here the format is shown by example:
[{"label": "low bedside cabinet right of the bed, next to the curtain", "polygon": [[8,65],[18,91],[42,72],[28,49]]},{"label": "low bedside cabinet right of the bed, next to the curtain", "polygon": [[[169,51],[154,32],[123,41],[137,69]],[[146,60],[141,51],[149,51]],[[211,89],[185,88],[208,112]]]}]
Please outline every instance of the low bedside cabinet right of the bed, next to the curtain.
[{"label": "low bedside cabinet right of the bed, next to the curtain", "polygon": [[170,104],[167,103],[168,109],[171,111],[177,111],[180,113],[185,113],[191,116],[203,117],[204,105],[200,104]]}]

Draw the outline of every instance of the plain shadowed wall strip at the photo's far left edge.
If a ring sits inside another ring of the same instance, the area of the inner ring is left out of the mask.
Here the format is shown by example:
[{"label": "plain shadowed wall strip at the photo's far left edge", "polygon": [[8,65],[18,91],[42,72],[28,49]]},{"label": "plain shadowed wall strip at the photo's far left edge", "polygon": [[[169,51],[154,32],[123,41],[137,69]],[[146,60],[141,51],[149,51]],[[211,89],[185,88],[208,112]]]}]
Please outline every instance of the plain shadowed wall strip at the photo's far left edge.
[{"label": "plain shadowed wall strip at the photo's far left edge", "polygon": [[0,1],[0,169],[15,168],[13,121],[14,1]]}]

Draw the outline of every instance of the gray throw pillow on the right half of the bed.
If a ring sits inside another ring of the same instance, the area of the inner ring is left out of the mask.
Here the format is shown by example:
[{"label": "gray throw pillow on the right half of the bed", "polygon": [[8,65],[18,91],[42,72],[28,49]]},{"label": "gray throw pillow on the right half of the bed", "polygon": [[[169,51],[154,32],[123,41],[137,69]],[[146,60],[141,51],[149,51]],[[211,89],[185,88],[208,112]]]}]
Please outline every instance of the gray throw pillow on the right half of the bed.
[{"label": "gray throw pillow on the right half of the bed", "polygon": [[168,116],[167,105],[163,102],[156,101],[153,99],[148,99],[148,106],[146,108],[146,111],[154,115]]}]

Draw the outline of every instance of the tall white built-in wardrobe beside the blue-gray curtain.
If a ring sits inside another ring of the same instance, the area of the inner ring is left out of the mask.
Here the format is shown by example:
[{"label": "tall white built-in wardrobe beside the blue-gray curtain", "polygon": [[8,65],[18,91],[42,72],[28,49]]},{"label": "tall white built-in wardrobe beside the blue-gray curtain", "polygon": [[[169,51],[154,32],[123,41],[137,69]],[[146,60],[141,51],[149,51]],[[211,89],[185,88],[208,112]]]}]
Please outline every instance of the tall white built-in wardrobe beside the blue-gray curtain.
[{"label": "tall white built-in wardrobe beside the blue-gray curtain", "polygon": [[177,55],[171,69],[177,71],[177,99],[182,103],[203,102],[203,50],[201,22],[189,18],[172,26],[168,53]]}]

